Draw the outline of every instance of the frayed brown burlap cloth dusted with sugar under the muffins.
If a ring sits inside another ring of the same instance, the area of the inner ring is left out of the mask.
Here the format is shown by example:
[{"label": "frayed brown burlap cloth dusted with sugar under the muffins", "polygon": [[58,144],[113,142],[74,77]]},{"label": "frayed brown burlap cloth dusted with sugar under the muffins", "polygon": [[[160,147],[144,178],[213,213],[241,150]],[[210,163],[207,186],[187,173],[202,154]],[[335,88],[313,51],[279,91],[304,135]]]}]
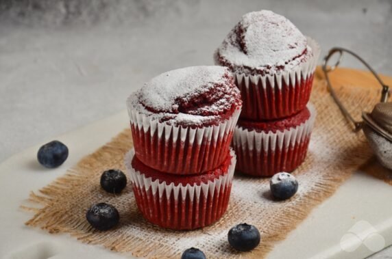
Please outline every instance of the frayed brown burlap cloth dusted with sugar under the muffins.
[{"label": "frayed brown burlap cloth dusted with sugar under the muffins", "polygon": [[[338,85],[336,91],[352,113],[371,111],[380,96],[376,87]],[[34,213],[26,224],[51,234],[69,233],[83,243],[103,245],[140,257],[179,258],[185,249],[198,247],[208,258],[263,258],[310,210],[330,197],[371,158],[363,133],[352,133],[320,77],[315,78],[311,102],[317,109],[317,120],[306,161],[293,172],[299,181],[299,190],[291,200],[274,201],[267,178],[236,175],[228,211],[217,223],[194,231],[171,231],[153,226],[138,212],[130,185],[120,195],[106,193],[99,185],[104,170],[125,171],[124,154],[132,148],[132,135],[126,129],[84,157],[64,176],[32,193],[29,200],[38,205],[24,207]],[[117,207],[121,215],[117,228],[99,232],[90,227],[86,210],[97,202]],[[227,233],[232,226],[243,222],[255,225],[262,241],[253,251],[238,253],[228,245]]]}]

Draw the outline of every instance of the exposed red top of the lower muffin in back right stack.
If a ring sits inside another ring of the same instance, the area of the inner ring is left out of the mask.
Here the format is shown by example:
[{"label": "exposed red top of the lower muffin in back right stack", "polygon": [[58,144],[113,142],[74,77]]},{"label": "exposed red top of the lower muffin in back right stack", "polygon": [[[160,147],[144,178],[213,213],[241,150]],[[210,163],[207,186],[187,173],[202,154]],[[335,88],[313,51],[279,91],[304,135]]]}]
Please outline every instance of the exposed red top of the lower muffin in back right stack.
[{"label": "exposed red top of the lower muffin in back right stack", "polygon": [[295,128],[306,122],[309,118],[310,111],[308,108],[305,108],[295,115],[280,120],[269,120],[265,122],[238,120],[238,126],[242,128],[247,128],[249,131],[256,131],[258,133],[269,133],[270,131],[276,133],[277,131],[283,132],[284,130]]}]

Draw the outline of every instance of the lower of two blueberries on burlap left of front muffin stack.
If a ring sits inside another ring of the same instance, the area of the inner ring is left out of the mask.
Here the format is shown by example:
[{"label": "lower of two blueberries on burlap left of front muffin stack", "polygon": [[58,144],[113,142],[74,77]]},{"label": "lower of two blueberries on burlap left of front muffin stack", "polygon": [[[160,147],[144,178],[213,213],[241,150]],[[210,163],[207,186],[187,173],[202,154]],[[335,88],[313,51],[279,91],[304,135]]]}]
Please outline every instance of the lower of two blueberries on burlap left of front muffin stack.
[{"label": "lower of two blueberries on burlap left of front muffin stack", "polygon": [[117,208],[106,203],[99,203],[87,210],[86,219],[97,230],[110,230],[119,223],[120,215]]}]

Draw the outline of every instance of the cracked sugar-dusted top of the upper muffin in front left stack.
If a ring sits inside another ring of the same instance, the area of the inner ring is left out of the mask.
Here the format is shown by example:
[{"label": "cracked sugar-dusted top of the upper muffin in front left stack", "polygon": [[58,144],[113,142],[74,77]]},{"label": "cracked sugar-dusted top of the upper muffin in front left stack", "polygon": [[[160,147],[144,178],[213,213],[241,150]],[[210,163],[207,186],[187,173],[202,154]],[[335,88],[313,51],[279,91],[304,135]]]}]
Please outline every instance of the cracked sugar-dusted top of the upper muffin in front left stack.
[{"label": "cracked sugar-dusted top of the upper muffin in front left stack", "polygon": [[128,109],[175,126],[210,126],[241,107],[228,68],[193,66],[164,72],[127,100]]}]

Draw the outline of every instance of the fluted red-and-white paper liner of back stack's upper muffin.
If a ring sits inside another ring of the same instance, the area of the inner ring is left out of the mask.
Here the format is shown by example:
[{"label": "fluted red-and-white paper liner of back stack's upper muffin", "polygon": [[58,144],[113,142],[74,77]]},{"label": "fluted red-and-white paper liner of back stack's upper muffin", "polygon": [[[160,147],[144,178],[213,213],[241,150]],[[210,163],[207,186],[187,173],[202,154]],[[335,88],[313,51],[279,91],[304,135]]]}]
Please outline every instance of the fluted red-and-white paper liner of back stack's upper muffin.
[{"label": "fluted red-and-white paper liner of back stack's upper muffin", "polygon": [[243,99],[241,118],[275,120],[293,115],[306,107],[320,55],[320,47],[315,40],[308,38],[308,44],[313,55],[292,70],[264,75],[234,72]]}]

